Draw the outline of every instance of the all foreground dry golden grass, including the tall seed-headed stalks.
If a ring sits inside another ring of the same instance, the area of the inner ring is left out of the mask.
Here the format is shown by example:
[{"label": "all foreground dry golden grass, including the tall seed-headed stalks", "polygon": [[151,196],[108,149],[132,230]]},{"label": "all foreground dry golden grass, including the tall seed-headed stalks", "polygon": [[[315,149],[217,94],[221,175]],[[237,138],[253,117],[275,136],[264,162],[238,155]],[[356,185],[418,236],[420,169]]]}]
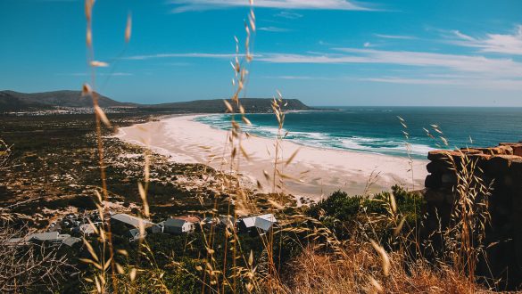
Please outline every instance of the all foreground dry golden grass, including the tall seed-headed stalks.
[{"label": "all foreground dry golden grass, including the tall seed-headed stalks", "polygon": [[[105,179],[104,145],[102,143],[102,127],[111,127],[109,119],[97,104],[95,93],[95,69],[108,66],[103,61],[95,60],[93,49],[93,32],[91,30],[93,20],[94,0],[86,0],[87,37],[86,43],[89,51],[87,63],[92,71],[90,85],[83,86],[83,93],[92,97],[96,119],[96,135],[98,139],[97,149],[100,165],[100,178],[102,188],[96,193],[97,208],[100,216],[104,216],[107,208],[104,207],[108,199],[108,187]],[[125,29],[125,40],[128,42],[131,32],[130,16]],[[253,6],[244,24],[245,40],[244,53],[240,53],[239,41],[236,38],[236,59],[232,62],[234,69],[233,84],[235,86],[231,97],[232,103],[225,102],[224,107],[231,114],[231,130],[228,133],[225,152],[220,170],[226,174],[224,177],[223,191],[229,193],[227,201],[228,216],[242,216],[260,211],[253,199],[253,193],[246,189],[236,177],[240,173],[240,167],[244,160],[249,160],[249,153],[244,149],[243,141],[249,134],[242,129],[243,124],[250,124],[241,104],[241,96],[245,95],[248,84],[248,67],[253,61],[253,39],[255,34],[255,14]],[[325,228],[319,220],[304,222],[308,225],[295,225],[297,220],[303,220],[302,216],[286,216],[282,213],[284,206],[282,198],[285,195],[286,181],[299,181],[299,177],[286,175],[285,167],[292,163],[297,153],[289,155],[286,159],[282,142],[287,134],[283,134],[285,122],[286,104],[281,94],[273,99],[272,109],[278,120],[278,135],[274,142],[273,170],[265,171],[266,178],[258,179],[258,184],[268,182],[272,188],[271,212],[278,214],[283,225],[280,231],[270,230],[262,234],[259,241],[262,244],[261,260],[254,260],[253,252],[244,252],[241,249],[241,236],[236,228],[226,228],[224,243],[217,243],[216,228],[211,227],[209,232],[203,231],[203,246],[205,254],[202,265],[196,267],[197,272],[190,272],[183,264],[172,260],[170,266],[176,270],[186,272],[195,277],[200,284],[202,293],[228,293],[228,292],[255,292],[255,293],[359,293],[359,292],[386,292],[386,293],[468,293],[481,290],[475,282],[474,268],[479,257],[480,230],[487,221],[488,187],[476,178],[475,166],[472,162],[453,162],[454,170],[459,178],[457,191],[460,198],[456,201],[452,225],[441,232],[446,247],[443,256],[434,263],[427,257],[420,255],[421,241],[418,239],[417,225],[415,228],[403,228],[404,217],[398,211],[393,195],[385,201],[386,213],[383,216],[362,216],[360,227],[355,229],[353,237],[347,241],[339,241],[335,234]],[[406,148],[409,150],[409,135],[404,119],[401,120],[404,127]],[[242,123],[241,123],[242,122]],[[437,126],[436,133],[441,134],[440,140],[447,145],[442,132]],[[428,135],[429,132],[427,131]],[[3,142],[1,142],[3,143]],[[3,143],[4,144],[4,143]],[[145,151],[144,179],[137,183],[137,190],[142,200],[141,215],[150,216],[147,201],[150,161],[149,153]],[[410,151],[409,151],[410,154]],[[410,158],[411,161],[411,158]],[[0,159],[0,163],[2,163]],[[462,165],[462,166],[459,166]],[[1,165],[0,165],[1,167]],[[411,165],[412,167],[412,165]],[[413,170],[411,170],[413,174]],[[215,200],[214,209],[206,216],[216,217],[218,199]],[[306,219],[305,219],[306,220]],[[377,233],[377,225],[386,223],[394,228],[392,242],[382,240]],[[91,265],[93,272],[83,279],[89,282],[87,290],[95,292],[170,292],[165,286],[163,275],[169,268],[160,268],[155,263],[154,252],[145,241],[137,243],[137,264],[120,265],[116,257],[128,257],[128,252],[119,250],[112,245],[111,225],[95,229],[95,239],[99,246],[93,246],[91,241],[84,240],[85,248],[89,253],[83,262]],[[312,228],[310,227],[312,224]],[[140,227],[143,233],[144,228]],[[442,229],[441,229],[442,231]],[[415,232],[415,233],[412,233]],[[281,266],[280,260],[282,243],[276,243],[281,238],[277,234],[288,233],[295,236],[295,241],[301,246],[302,253],[294,258],[290,265]],[[305,239],[312,240],[308,245],[303,245],[300,233],[308,233]],[[478,236],[478,238],[476,238]],[[394,250],[383,243],[394,244]],[[216,251],[223,250],[223,260],[216,259]],[[228,264],[228,257],[232,256],[232,264]],[[143,260],[151,265],[153,270],[140,268]],[[261,271],[261,265],[264,270]],[[283,271],[285,269],[285,271]],[[147,288],[148,287],[148,288]]]}]

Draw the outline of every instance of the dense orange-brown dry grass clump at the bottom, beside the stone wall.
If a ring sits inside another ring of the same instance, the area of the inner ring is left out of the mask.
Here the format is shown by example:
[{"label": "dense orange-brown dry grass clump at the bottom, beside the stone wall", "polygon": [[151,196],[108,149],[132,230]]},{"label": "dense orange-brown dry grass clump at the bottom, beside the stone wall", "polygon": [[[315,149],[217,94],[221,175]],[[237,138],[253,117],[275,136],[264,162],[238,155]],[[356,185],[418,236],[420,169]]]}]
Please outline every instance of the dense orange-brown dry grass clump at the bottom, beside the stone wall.
[{"label": "dense orange-brown dry grass clump at the bottom, beside the stone wall", "polygon": [[307,248],[294,260],[288,276],[288,293],[473,293],[475,283],[449,268],[413,264],[401,253],[389,255],[390,273],[368,243],[354,242],[336,258]]}]

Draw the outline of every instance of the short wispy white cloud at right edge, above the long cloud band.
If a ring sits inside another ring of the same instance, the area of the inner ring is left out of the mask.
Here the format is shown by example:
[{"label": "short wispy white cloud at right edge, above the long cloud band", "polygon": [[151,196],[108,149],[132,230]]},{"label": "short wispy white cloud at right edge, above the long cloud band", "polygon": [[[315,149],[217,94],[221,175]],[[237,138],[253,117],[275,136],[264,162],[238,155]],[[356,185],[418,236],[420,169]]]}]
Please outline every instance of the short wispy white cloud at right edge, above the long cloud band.
[{"label": "short wispy white cloud at right edge, above the long cloud band", "polygon": [[482,53],[503,53],[522,55],[522,25],[518,25],[512,34],[486,34],[485,37],[471,37],[459,30],[452,31],[455,45],[476,47]]}]

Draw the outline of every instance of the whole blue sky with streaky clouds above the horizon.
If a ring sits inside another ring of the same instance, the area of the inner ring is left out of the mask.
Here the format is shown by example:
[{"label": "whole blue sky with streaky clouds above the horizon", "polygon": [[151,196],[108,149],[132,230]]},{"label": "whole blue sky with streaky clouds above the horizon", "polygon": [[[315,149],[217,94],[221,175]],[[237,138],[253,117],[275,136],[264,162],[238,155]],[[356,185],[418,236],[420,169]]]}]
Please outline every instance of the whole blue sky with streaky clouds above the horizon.
[{"label": "whole blue sky with streaky clouds above the horizon", "polygon": [[[522,106],[522,1],[254,0],[247,96],[311,105]],[[124,40],[128,13],[132,38]],[[128,102],[229,97],[247,0],[97,0],[96,90]],[[0,0],[0,89],[80,89],[81,0]]]}]

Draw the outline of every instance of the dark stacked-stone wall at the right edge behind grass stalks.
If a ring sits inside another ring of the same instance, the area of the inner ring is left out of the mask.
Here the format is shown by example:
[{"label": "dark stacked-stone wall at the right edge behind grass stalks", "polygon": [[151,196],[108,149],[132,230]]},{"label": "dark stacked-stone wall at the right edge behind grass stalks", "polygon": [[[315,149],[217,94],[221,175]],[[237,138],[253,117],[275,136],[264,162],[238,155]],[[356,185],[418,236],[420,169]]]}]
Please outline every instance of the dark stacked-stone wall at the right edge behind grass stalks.
[{"label": "dark stacked-stone wall at the right edge behind grass stalks", "polygon": [[[466,159],[464,159],[466,157]],[[475,176],[493,183],[489,196],[491,224],[486,229],[485,245],[489,265],[482,262],[477,274],[501,278],[510,289],[522,283],[522,143],[500,143],[491,148],[460,151],[430,151],[425,182],[427,233],[450,221],[462,160],[476,163]],[[469,162],[465,161],[465,162]],[[453,164],[454,162],[454,164]],[[439,223],[440,221],[440,223]],[[491,274],[488,274],[491,273]]]}]

